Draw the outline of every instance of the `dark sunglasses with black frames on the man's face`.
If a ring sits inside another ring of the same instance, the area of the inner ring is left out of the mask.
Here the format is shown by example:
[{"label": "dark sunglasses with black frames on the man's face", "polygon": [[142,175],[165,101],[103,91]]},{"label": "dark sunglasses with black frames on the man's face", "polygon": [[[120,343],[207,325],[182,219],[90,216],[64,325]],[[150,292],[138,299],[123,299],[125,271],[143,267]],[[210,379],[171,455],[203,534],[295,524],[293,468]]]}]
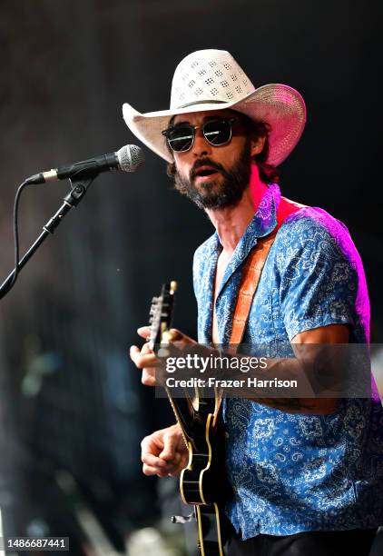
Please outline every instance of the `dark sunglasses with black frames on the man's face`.
[{"label": "dark sunglasses with black frames on the man's face", "polygon": [[162,131],[169,146],[175,153],[185,153],[194,143],[195,130],[200,129],[206,141],[213,146],[229,143],[231,140],[232,124],[237,118],[220,118],[210,120],[202,125],[179,124],[170,125]]}]

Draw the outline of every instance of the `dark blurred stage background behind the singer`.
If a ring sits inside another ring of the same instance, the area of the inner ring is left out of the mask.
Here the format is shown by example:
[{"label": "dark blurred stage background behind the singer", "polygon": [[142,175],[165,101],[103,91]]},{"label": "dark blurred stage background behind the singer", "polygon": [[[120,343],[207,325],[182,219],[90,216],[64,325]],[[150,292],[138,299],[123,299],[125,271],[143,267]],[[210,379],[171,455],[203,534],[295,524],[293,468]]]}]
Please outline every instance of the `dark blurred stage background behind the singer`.
[{"label": "dark blurred stage background behind the singer", "polygon": [[[137,143],[123,123],[123,102],[140,112],[168,107],[182,57],[222,48],[256,86],[290,84],[305,98],[308,124],[280,168],[281,190],[349,226],[365,263],[372,341],[380,343],[379,22],[378,2],[346,0],[3,0],[1,275],[13,266],[17,184]],[[212,228],[172,190],[164,161],[144,151],[137,174],[98,177],[1,303],[7,534],[74,534],[80,494],[117,547],[158,515],[139,442],[172,415],[141,386],[128,346],[170,278],[180,283],[175,324],[196,335],[192,253]],[[68,189],[64,182],[27,188],[22,253]],[[60,487],[57,470],[70,472],[79,490]]]}]

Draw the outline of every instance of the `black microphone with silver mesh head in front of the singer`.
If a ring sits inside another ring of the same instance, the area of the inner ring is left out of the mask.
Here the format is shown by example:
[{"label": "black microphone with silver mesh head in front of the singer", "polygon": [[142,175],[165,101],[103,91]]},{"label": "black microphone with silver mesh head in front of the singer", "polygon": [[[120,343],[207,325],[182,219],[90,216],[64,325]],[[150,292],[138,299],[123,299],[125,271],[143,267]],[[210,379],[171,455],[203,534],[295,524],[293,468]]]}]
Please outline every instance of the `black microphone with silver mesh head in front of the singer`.
[{"label": "black microphone with silver mesh head in front of the singer", "polygon": [[115,153],[101,154],[78,163],[59,166],[31,175],[25,180],[25,184],[45,184],[56,180],[66,180],[73,177],[86,177],[87,175],[111,172],[112,170],[123,170],[123,172],[135,172],[144,162],[145,155],[142,148],[136,144],[126,144]]}]

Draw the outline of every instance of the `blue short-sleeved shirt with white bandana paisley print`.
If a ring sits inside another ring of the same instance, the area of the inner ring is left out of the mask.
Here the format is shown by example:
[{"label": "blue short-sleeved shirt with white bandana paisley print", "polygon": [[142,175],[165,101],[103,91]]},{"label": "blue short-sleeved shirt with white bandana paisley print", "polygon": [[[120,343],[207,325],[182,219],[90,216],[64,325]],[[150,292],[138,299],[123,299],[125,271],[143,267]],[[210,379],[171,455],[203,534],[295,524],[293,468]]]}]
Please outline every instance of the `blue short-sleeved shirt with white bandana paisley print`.
[{"label": "blue short-sleeved shirt with white bandana paisley print", "polygon": [[[276,226],[280,189],[271,184],[233,253],[216,300],[220,343],[229,343],[243,262]],[[194,255],[200,343],[211,343],[213,284],[221,243],[214,233]],[[280,226],[250,308],[243,342],[290,343],[298,333],[350,325],[367,343],[369,304],[358,252],[346,226],[303,207]],[[242,398],[223,403],[226,465],[234,497],[227,513],[242,539],[260,533],[340,531],[383,524],[383,410],[342,399],[333,413],[287,413]]]}]

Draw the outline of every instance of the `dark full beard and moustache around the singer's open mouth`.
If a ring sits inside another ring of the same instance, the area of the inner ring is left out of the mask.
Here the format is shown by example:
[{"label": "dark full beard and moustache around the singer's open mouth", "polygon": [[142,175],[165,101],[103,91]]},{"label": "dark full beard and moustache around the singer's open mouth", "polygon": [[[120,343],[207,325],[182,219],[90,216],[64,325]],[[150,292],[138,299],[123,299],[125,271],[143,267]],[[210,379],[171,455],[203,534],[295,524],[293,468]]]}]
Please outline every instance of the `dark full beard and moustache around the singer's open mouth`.
[{"label": "dark full beard and moustache around the singer's open mouth", "polygon": [[[209,164],[221,173],[219,180],[211,179],[201,185],[195,185],[196,171],[201,166]],[[181,194],[186,195],[201,209],[222,209],[234,207],[240,203],[243,192],[248,188],[251,174],[250,140],[246,141],[237,160],[230,169],[221,164],[213,163],[210,158],[201,158],[191,168],[190,178],[185,178],[175,171],[174,183]]]}]

